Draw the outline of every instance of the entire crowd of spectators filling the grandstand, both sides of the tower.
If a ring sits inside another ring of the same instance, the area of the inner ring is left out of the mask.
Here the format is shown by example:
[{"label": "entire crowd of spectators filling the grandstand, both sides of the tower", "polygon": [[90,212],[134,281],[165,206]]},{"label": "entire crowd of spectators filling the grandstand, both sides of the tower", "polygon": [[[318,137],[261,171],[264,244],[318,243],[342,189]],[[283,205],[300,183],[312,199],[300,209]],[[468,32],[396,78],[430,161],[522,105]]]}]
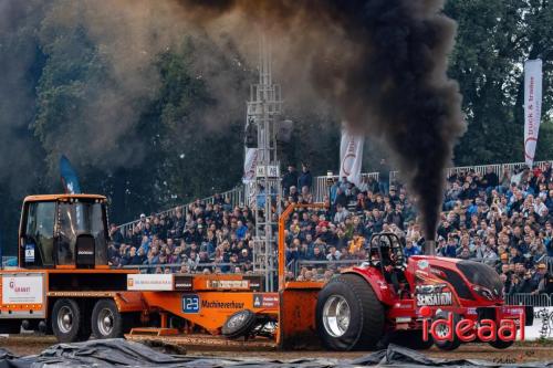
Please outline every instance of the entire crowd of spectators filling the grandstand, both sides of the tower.
[{"label": "entire crowd of spectators filling the grandstand, both sides of the tower", "polygon": [[[386,162],[378,180],[364,177],[356,186],[346,178],[328,188],[324,209],[293,213],[285,230],[290,277],[327,280],[342,266],[367,259],[371,235],[394,232],[405,255],[421,253],[425,239],[416,208],[400,183],[389,185]],[[307,166],[293,166],[282,178],[283,207],[311,203],[313,177]],[[262,192],[260,188],[259,192]],[[254,206],[264,207],[264,196]],[[276,200],[276,196],[272,197]],[[437,252],[478,260],[497,269],[505,293],[546,291],[547,256],[553,256],[553,177],[546,165],[499,177],[491,168],[448,178]],[[253,211],[216,196],[213,203],[178,208],[174,215],[140,215],[122,233],[111,230],[113,266],[145,266],[145,272],[251,273]],[[551,292],[551,291],[547,291]]]}]

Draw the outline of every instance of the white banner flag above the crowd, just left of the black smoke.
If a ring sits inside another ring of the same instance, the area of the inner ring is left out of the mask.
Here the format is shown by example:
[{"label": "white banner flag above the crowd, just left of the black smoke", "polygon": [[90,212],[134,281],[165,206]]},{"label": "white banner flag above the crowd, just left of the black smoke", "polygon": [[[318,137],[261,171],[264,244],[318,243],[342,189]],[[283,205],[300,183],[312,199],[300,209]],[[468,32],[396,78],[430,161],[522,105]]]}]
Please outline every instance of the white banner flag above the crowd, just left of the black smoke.
[{"label": "white banner flag above the crowd, just left of the black smoke", "polygon": [[361,166],[363,162],[364,136],[356,136],[342,130],[342,143],[340,144],[340,178],[358,186],[361,183]]}]

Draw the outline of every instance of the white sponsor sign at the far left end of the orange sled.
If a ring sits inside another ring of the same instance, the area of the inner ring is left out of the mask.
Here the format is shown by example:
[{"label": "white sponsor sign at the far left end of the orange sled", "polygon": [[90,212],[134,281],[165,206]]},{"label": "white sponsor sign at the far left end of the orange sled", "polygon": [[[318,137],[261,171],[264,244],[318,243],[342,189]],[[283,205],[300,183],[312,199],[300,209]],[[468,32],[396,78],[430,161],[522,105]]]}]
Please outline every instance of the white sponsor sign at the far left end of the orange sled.
[{"label": "white sponsor sign at the far left end of the orange sled", "polygon": [[2,276],[2,304],[42,304],[43,293],[42,275]]}]

